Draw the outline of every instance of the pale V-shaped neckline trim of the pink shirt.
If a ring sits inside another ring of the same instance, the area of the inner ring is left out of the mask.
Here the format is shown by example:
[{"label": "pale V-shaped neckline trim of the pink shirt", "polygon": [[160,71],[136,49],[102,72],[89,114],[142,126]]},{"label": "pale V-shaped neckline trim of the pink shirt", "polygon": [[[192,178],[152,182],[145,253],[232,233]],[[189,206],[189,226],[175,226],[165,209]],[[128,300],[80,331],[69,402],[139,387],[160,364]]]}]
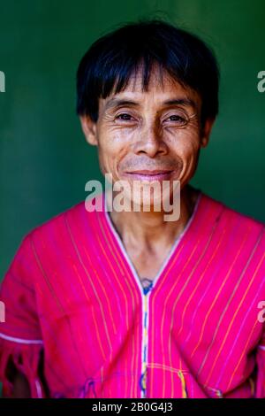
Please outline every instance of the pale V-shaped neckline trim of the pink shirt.
[{"label": "pale V-shaped neckline trim of the pink shirt", "polygon": [[[137,270],[135,268],[135,266],[133,265],[133,261],[130,258],[129,254],[127,253],[126,249],[125,249],[125,245],[121,239],[121,237],[118,235],[117,230],[111,220],[110,217],[110,213],[107,210],[107,198],[106,198],[106,191],[102,192],[102,197],[103,197],[103,212],[104,212],[104,217],[110,227],[110,231],[112,233],[112,235],[114,236],[114,239],[116,240],[120,250],[122,251],[122,254],[124,256],[125,259],[125,266],[129,266],[130,267],[130,271],[131,273],[133,273],[133,277],[134,280],[136,281],[136,283],[138,284],[138,287],[140,288],[140,292],[143,294],[148,294],[150,292],[150,290],[147,291],[147,289],[154,289],[157,281],[159,281],[159,279],[162,277],[166,266],[168,266],[170,259],[173,257],[174,252],[177,250],[178,244],[183,240],[183,237],[186,235],[188,229],[191,227],[193,220],[196,216],[196,212],[198,211],[198,207],[200,205],[201,202],[201,197],[202,197],[202,192],[201,190],[199,191],[199,195],[197,196],[197,200],[196,203],[194,205],[193,208],[193,213],[191,215],[191,217],[189,218],[189,220],[186,223],[186,227],[183,229],[183,231],[180,233],[180,235],[178,235],[178,237],[176,238],[175,242],[172,244],[170,252],[168,253],[168,255],[166,256],[166,258],[164,258],[163,260],[163,264],[162,266],[160,266],[158,272],[155,274],[155,278],[153,279],[152,283],[148,286],[148,288],[144,288],[141,283],[140,283],[140,276],[137,273]],[[126,265],[127,263],[127,265]]]}]

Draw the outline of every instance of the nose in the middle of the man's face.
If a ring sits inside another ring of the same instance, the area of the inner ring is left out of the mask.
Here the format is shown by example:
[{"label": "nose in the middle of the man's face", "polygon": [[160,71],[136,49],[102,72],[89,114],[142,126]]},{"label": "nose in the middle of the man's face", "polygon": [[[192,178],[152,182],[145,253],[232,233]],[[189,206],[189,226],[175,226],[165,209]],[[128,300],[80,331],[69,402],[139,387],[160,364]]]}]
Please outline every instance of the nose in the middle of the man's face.
[{"label": "nose in the middle of the man's face", "polygon": [[168,152],[167,145],[163,141],[162,129],[150,122],[142,127],[134,151],[136,154],[146,154],[149,158],[156,155],[165,155]]}]

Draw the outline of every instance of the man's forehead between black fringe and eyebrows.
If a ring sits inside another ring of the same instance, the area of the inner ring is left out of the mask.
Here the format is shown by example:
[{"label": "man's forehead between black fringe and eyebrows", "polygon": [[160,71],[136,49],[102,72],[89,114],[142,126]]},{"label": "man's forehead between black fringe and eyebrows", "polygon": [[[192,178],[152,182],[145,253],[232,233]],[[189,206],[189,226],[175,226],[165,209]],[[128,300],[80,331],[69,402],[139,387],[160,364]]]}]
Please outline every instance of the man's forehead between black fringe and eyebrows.
[{"label": "man's forehead between black fringe and eyebrows", "polygon": [[142,83],[143,74],[139,69],[137,73],[132,74],[125,89],[117,94],[112,93],[104,99],[100,98],[100,110],[105,111],[114,108],[117,99],[132,99],[139,104],[148,102],[157,106],[176,99],[190,100],[194,103],[194,107],[198,108],[201,104],[201,98],[196,91],[182,85],[170,77],[169,73],[160,72],[157,68],[154,68],[150,74],[147,90],[143,90]]}]

